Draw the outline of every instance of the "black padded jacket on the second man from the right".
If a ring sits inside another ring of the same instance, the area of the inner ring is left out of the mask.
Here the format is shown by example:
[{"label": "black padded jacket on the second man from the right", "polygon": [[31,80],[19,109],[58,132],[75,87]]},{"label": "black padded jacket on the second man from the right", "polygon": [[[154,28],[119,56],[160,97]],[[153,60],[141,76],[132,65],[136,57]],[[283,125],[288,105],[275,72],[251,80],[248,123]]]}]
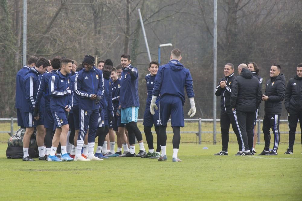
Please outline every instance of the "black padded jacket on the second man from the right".
[{"label": "black padded jacket on the second man from the right", "polygon": [[265,114],[281,115],[282,101],[285,96],[285,77],[283,74],[271,77],[266,82],[264,95],[268,96],[268,100],[264,103]]}]

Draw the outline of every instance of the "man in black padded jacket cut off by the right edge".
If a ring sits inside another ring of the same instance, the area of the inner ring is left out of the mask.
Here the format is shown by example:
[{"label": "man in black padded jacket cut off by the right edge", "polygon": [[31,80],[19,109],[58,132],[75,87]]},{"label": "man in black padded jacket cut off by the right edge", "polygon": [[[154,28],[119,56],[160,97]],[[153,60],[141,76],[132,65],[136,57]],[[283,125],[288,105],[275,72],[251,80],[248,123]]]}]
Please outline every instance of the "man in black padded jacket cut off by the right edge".
[{"label": "man in black padded jacket cut off by the right edge", "polygon": [[297,75],[288,81],[285,90],[285,109],[288,112],[288,149],[284,154],[293,154],[298,119],[302,130],[302,64],[297,66]]}]

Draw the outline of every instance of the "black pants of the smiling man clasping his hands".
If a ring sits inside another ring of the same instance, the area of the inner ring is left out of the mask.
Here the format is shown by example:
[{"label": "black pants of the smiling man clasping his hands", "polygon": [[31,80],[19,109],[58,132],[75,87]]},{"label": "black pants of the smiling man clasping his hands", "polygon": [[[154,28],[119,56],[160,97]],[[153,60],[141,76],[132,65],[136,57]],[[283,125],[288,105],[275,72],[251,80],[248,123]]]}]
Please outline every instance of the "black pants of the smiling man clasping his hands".
[{"label": "black pants of the smiling man clasping his hands", "polygon": [[220,112],[220,128],[221,128],[221,141],[222,141],[222,151],[227,152],[228,144],[229,144],[229,130],[230,124],[232,124],[232,128],[234,133],[236,134],[239,150],[242,150],[242,141],[240,139],[239,131],[236,125],[236,121],[233,115],[232,109],[223,110]]}]

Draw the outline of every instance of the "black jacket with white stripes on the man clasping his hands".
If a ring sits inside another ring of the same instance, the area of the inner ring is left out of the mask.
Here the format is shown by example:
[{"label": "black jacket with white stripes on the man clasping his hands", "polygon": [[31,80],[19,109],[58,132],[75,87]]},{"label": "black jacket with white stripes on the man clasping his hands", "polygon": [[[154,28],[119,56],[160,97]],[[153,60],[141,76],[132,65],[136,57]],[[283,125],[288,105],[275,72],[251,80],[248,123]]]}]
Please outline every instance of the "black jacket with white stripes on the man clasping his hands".
[{"label": "black jacket with white stripes on the man clasping his hands", "polygon": [[[215,95],[221,96],[220,99],[220,108],[222,111],[232,111],[231,104],[230,104],[230,98],[231,98],[231,89],[233,85],[233,80],[235,79],[235,75],[231,74],[228,77],[222,78],[218,82],[218,86],[215,89]],[[219,85],[221,81],[226,81],[226,87],[222,89]]]}]

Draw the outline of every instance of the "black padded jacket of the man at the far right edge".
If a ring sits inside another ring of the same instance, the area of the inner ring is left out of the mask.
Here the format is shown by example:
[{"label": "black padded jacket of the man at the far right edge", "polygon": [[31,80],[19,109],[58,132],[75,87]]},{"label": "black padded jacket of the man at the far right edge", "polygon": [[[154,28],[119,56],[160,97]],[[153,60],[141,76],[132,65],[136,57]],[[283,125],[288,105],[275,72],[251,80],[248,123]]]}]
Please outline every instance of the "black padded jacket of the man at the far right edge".
[{"label": "black padded jacket of the man at the far right edge", "polygon": [[291,78],[288,81],[285,90],[284,99],[285,109],[292,109],[296,111],[302,111],[302,77]]}]

